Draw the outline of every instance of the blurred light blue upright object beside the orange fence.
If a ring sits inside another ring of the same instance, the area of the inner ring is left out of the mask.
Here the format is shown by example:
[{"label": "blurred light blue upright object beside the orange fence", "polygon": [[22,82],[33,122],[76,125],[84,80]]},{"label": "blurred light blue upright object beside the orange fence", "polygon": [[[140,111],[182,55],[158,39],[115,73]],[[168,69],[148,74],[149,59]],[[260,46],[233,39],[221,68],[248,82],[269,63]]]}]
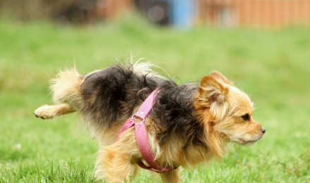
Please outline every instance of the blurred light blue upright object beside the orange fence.
[{"label": "blurred light blue upright object beside the orange fence", "polygon": [[168,2],[169,24],[175,27],[190,27],[194,21],[194,0],[157,0]]}]

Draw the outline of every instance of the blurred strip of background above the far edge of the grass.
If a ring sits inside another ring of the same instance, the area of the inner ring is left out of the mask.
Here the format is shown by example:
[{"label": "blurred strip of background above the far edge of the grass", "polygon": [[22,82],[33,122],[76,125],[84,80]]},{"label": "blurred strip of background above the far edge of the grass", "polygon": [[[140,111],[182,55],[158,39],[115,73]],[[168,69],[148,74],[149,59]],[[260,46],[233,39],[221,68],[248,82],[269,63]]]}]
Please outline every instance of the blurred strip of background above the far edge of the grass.
[{"label": "blurred strip of background above the far edge of the grass", "polygon": [[135,9],[159,25],[283,27],[309,25],[309,0],[0,0],[0,12],[18,20],[94,24]]}]

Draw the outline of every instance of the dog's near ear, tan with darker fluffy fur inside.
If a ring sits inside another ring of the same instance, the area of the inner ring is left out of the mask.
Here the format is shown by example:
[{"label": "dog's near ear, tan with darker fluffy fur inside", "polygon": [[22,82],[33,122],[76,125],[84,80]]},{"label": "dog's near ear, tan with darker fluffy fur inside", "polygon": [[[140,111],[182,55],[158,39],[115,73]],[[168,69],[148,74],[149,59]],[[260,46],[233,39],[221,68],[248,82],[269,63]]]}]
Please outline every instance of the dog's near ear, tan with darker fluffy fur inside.
[{"label": "dog's near ear, tan with darker fluffy fur inside", "polygon": [[210,75],[205,75],[200,81],[199,93],[204,101],[204,106],[211,107],[212,103],[224,103],[228,88]]}]

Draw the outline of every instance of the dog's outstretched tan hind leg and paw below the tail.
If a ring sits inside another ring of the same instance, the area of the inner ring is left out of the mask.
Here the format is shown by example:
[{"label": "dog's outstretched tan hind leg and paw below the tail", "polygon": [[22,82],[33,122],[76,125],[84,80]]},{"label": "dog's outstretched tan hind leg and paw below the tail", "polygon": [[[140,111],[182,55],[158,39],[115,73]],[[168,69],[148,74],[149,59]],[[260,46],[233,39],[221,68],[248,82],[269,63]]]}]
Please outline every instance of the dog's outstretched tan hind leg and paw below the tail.
[{"label": "dog's outstretched tan hind leg and paw below the tail", "polygon": [[51,119],[58,115],[64,115],[68,113],[74,113],[75,109],[68,105],[67,103],[60,104],[58,106],[41,106],[35,110],[35,116],[37,118]]}]

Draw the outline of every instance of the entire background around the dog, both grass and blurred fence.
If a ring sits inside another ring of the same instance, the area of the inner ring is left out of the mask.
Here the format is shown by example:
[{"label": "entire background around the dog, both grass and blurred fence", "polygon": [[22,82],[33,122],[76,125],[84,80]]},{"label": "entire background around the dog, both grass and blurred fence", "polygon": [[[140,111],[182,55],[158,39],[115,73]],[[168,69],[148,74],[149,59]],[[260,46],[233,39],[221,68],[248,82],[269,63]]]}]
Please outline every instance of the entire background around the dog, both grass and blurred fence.
[{"label": "entire background around the dog, both grass and blurred fence", "polygon": [[[130,56],[178,84],[218,70],[266,128],[182,182],[310,182],[310,0],[0,0],[0,182],[95,182],[77,114],[53,120],[49,81]],[[160,182],[142,170],[135,182]]]}]

